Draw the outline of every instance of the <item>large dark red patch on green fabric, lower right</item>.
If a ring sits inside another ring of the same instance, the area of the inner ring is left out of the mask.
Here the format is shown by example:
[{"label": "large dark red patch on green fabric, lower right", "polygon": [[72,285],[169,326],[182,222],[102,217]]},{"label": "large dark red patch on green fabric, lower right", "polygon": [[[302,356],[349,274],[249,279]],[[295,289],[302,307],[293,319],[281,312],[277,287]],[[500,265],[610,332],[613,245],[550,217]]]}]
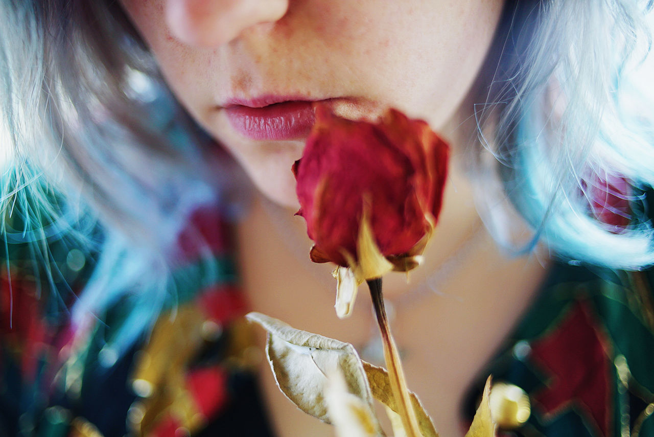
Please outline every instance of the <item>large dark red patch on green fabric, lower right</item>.
[{"label": "large dark red patch on green fabric, lower right", "polygon": [[[532,359],[550,376],[534,400],[545,415],[576,404],[591,426],[610,436],[613,393],[608,340],[591,317],[589,306],[576,302],[559,326],[532,343]],[[589,366],[589,364],[591,364]]]}]

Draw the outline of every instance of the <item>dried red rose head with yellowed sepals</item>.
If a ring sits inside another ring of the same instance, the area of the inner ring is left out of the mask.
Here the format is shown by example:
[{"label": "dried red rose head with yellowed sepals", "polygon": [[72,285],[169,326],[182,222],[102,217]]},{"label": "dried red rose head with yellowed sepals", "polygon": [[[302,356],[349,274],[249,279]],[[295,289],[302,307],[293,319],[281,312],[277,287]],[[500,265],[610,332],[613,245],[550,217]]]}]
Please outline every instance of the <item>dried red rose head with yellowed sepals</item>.
[{"label": "dried red rose head with yellowed sepals", "polygon": [[[395,109],[376,124],[340,118],[326,105],[315,112],[293,166],[297,214],[315,241],[311,260],[338,264],[337,287],[353,294],[343,296],[350,302],[362,281],[419,264],[441,209],[449,147],[426,122]],[[349,311],[350,304],[337,308]]]}]

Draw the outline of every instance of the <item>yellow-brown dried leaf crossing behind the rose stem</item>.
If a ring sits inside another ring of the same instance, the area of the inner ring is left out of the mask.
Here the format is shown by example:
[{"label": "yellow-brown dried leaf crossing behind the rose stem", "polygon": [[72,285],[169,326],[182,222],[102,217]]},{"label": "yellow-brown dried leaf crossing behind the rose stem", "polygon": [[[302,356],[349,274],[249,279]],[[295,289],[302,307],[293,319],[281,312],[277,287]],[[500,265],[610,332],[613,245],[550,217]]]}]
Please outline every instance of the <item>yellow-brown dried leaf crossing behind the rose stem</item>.
[{"label": "yellow-brown dried leaf crossing behind the rose stem", "polygon": [[[364,370],[368,376],[368,383],[370,383],[370,389],[372,395],[375,399],[379,400],[382,404],[387,406],[394,413],[398,412],[398,406],[393,396],[392,389],[390,387],[390,379],[388,378],[388,372],[385,368],[374,366],[369,362],[363,361]],[[411,396],[411,405],[418,419],[418,426],[420,427],[420,432],[424,437],[438,437],[438,432],[434,427],[431,417],[424,410],[418,396],[415,393],[410,392]],[[390,415],[389,415],[390,417]],[[398,415],[398,419],[402,419]],[[391,418],[391,421],[393,418]],[[396,433],[397,437],[397,433]]]}]

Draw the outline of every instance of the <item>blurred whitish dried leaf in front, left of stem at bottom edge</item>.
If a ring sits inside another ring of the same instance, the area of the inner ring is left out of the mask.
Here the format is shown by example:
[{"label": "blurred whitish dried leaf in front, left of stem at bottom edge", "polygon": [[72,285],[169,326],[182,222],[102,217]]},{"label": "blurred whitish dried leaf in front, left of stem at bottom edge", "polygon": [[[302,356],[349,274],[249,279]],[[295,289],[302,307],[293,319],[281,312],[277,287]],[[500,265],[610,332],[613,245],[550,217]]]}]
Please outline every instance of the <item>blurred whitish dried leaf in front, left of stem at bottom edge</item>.
[{"label": "blurred whitish dried leaf in front, left of stem at bottom edge", "polygon": [[328,374],[324,393],[330,419],[336,427],[338,437],[384,435],[370,406],[347,391],[347,385],[341,372]]}]

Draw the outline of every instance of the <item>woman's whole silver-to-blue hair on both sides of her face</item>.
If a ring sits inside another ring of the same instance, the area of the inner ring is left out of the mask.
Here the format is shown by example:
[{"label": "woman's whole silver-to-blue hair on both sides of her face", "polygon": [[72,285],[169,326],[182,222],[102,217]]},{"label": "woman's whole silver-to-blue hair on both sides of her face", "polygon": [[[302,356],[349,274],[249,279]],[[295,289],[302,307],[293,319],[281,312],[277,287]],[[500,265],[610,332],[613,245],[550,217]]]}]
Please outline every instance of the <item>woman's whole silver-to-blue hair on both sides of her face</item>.
[{"label": "woman's whole silver-to-blue hair on both sides of her face", "polygon": [[[654,183],[652,106],[634,114],[624,100],[630,61],[649,44],[650,8],[638,0],[508,1],[481,75],[485,103],[475,107],[479,143],[493,158],[475,154],[475,177],[498,239],[503,196],[534,230],[527,247],[544,237],[570,260],[653,264],[649,220],[634,217],[625,232],[611,232],[589,214],[582,183],[589,171],[618,173],[636,188]],[[6,241],[28,244],[43,265],[48,243],[63,235],[97,254],[75,317],[101,318],[127,300],[128,319],[108,342],[115,356],[182,288],[217,274],[208,253],[183,281],[171,271],[190,213],[222,202],[216,187],[226,181],[216,177],[218,163],[209,171],[207,140],[117,2],[0,0],[0,10],[1,123],[12,149],[0,207],[25,217],[21,229],[4,229]],[[502,181],[502,194],[489,195],[490,180]]]}]

